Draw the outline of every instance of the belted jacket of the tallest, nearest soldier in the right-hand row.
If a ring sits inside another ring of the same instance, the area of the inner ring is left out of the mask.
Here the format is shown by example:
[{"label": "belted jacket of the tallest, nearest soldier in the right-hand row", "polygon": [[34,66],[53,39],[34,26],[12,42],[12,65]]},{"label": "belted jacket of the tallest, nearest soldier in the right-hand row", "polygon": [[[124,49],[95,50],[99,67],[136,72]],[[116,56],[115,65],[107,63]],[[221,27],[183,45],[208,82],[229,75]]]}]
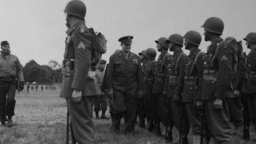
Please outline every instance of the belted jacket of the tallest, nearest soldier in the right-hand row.
[{"label": "belted jacket of the tallest, nearest soldier in the right-hand row", "polygon": [[222,41],[222,38],[218,38],[212,42],[203,58],[204,74],[201,100],[234,97],[230,88],[234,77],[232,49],[221,43]]}]

